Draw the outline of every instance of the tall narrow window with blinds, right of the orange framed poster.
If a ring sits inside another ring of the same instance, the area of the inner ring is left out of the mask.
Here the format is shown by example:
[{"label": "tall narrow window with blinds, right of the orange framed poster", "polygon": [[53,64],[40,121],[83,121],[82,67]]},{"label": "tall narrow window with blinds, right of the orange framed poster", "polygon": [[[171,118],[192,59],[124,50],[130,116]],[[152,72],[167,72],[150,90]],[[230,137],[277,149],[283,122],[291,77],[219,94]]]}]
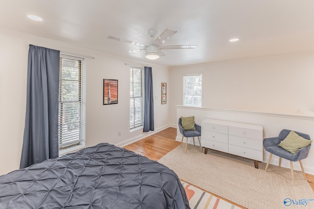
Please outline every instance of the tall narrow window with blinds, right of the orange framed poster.
[{"label": "tall narrow window with blinds, right of the orange framed poster", "polygon": [[143,126],[143,72],[142,68],[130,68],[130,130]]}]

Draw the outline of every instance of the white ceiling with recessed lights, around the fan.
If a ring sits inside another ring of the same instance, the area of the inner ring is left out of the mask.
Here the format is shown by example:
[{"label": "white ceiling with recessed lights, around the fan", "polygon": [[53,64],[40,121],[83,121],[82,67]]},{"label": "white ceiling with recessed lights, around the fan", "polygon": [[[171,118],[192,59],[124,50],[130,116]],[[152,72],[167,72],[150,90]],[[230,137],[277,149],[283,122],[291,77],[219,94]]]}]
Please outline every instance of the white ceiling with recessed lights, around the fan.
[{"label": "white ceiling with recessed lights, around the fan", "polygon": [[140,62],[145,51],[123,52],[141,47],[106,37],[149,45],[148,29],[168,28],[178,32],[163,46],[197,45],[150,61],[166,66],[314,50],[314,0],[1,0],[0,17],[0,28]]}]

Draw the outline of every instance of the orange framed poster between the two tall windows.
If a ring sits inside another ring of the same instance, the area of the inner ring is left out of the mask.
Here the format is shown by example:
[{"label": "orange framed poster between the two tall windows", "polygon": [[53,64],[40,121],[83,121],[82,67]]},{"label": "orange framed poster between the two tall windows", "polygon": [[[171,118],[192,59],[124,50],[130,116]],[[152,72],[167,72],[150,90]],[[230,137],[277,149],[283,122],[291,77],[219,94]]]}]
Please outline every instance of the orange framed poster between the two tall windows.
[{"label": "orange framed poster between the two tall windows", "polygon": [[104,79],[104,105],[118,104],[118,80]]}]

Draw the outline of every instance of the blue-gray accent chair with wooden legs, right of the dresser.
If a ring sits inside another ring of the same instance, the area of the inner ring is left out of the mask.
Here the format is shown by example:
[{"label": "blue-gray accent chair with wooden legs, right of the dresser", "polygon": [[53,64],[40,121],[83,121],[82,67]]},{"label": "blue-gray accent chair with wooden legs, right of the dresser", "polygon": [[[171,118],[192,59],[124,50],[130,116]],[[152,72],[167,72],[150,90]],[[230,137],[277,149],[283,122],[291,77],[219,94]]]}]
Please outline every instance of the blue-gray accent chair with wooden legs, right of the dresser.
[{"label": "blue-gray accent chair with wooden legs, right of the dresser", "polygon": [[[306,178],[306,175],[305,175],[304,168],[303,168],[301,160],[303,160],[303,159],[308,157],[309,151],[310,151],[310,148],[311,148],[311,144],[306,146],[306,147],[303,147],[303,148],[299,149],[297,151],[297,153],[295,153],[295,155],[291,154],[290,152],[286,151],[285,149],[281,148],[280,146],[277,146],[282,140],[284,140],[288,136],[290,131],[291,130],[283,129],[280,132],[278,137],[272,137],[272,138],[264,139],[263,140],[263,146],[264,146],[266,151],[270,152],[270,155],[269,155],[266,167],[265,167],[265,171],[268,168],[271,156],[273,154],[279,156],[279,167],[281,165],[281,159],[282,158],[287,159],[287,160],[290,161],[292,183],[294,184],[294,175],[293,175],[293,164],[292,164],[292,162],[299,161],[299,163],[301,165],[301,169],[302,169],[303,175]],[[307,135],[307,134],[303,134],[303,133],[296,132],[296,131],[295,131],[295,133],[298,134],[299,136],[303,137],[304,139],[311,140],[310,136]]]}]

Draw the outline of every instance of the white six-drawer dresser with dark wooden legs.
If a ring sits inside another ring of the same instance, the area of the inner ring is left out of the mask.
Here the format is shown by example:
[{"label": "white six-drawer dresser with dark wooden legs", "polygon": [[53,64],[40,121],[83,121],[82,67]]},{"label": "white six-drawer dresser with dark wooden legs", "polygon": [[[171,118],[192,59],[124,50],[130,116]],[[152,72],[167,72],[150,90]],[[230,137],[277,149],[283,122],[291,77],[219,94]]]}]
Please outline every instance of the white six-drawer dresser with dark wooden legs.
[{"label": "white six-drawer dresser with dark wooden legs", "polygon": [[263,127],[224,120],[205,119],[202,121],[202,146],[254,160],[263,160]]}]

